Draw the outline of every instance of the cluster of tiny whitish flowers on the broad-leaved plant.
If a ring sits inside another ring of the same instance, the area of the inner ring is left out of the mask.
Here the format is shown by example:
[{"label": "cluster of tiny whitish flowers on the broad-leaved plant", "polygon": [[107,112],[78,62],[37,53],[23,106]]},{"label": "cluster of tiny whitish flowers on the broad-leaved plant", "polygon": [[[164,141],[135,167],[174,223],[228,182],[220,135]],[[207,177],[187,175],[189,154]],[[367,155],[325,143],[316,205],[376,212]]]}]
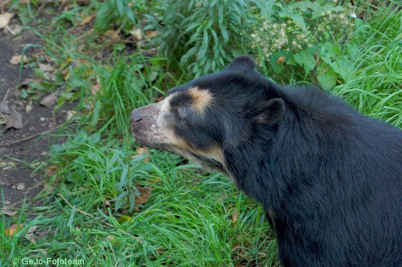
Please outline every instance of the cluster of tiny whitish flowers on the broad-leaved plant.
[{"label": "cluster of tiny whitish flowers on the broad-leaved plant", "polygon": [[[334,2],[336,3],[336,2]],[[270,56],[279,50],[299,51],[312,47],[317,42],[328,40],[333,33],[350,33],[354,26],[353,20],[356,13],[352,5],[343,6],[342,11],[328,10],[318,19],[309,20],[310,13],[300,15],[306,22],[306,28],[302,29],[293,20],[286,22],[273,21],[261,17],[252,28],[249,47],[256,52],[260,49],[263,57],[270,61]]]}]

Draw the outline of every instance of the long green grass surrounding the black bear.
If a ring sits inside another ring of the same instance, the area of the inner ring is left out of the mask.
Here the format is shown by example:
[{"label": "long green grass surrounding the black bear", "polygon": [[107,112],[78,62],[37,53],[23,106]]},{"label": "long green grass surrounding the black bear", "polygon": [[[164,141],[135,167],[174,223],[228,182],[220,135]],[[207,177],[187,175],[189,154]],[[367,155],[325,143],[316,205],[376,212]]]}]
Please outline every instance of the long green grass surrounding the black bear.
[{"label": "long green grass surrounding the black bear", "polygon": [[[363,23],[351,39],[362,51],[354,63],[357,75],[333,93],[360,112],[401,128],[400,7],[363,8]],[[136,157],[130,111],[163,97],[187,75],[170,73],[166,58],[147,58],[139,51],[126,55],[119,44],[102,43],[92,33],[73,33],[69,27],[57,20],[42,38],[56,64],[79,62],[65,82],[79,100],[73,130],[35,169],[43,176],[49,167],[56,170],[45,178],[46,190],[36,198],[40,204],[29,200],[14,217],[2,215],[0,251],[5,257],[0,265],[11,265],[15,257],[84,259],[88,266],[277,265],[276,241],[262,207],[228,178],[201,173],[169,153],[151,150],[150,162]],[[93,47],[93,54],[77,52],[79,42]],[[109,56],[95,59],[106,48]],[[269,66],[264,69],[273,76]],[[285,73],[281,82],[305,82],[297,72]],[[91,85],[97,82],[100,91],[93,95]],[[149,200],[137,207],[136,185],[153,188]],[[9,238],[5,229],[13,223],[24,228]],[[32,226],[39,226],[35,242],[24,238]]]}]

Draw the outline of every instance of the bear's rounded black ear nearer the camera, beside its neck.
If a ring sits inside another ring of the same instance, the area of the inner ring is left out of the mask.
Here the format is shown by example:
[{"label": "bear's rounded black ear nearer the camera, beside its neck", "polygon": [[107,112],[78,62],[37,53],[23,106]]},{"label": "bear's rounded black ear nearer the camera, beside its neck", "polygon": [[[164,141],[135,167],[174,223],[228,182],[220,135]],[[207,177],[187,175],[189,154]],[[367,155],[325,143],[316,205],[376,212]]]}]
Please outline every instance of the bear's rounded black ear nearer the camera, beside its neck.
[{"label": "bear's rounded black ear nearer the camera, beside its neck", "polygon": [[277,123],[285,111],[285,102],[280,98],[273,98],[264,103],[263,108],[256,117],[256,122],[272,125]]}]

